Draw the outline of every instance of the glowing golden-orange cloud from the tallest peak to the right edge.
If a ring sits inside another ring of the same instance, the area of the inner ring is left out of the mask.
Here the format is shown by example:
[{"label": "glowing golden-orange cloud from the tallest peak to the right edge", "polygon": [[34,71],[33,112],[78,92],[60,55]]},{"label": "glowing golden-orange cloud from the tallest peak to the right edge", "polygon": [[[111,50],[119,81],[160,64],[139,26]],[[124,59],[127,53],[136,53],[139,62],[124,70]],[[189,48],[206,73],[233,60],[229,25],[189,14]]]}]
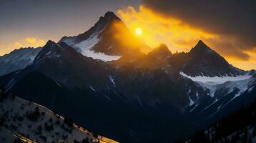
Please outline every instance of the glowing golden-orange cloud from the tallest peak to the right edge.
[{"label": "glowing golden-orange cloud from the tallest peak to the right edge", "polygon": [[242,51],[240,48],[246,45],[233,37],[210,33],[177,18],[157,14],[144,6],[139,6],[139,10],[128,6],[119,9],[117,14],[134,34],[137,28],[141,28],[143,34],[140,37],[151,47],[164,43],[172,52],[189,51],[201,39],[225,56],[230,64],[241,69],[256,69],[256,50]]}]

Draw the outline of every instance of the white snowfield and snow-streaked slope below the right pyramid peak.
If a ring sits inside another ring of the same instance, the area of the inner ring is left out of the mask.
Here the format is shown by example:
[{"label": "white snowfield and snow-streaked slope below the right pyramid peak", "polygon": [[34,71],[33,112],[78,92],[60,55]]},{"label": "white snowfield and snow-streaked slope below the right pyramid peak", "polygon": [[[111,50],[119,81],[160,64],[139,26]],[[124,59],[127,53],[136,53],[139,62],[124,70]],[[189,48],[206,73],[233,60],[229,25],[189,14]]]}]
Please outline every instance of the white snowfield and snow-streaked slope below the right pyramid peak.
[{"label": "white snowfield and snow-streaked slope below the right pyramid peak", "polygon": [[250,94],[252,89],[256,87],[255,77],[249,74],[237,77],[190,77],[183,72],[179,74],[184,78],[192,79],[198,86],[207,91],[207,95],[212,99],[212,102],[200,102],[202,106],[197,106],[199,108],[197,112],[208,114],[210,117],[228,107],[237,97]]}]

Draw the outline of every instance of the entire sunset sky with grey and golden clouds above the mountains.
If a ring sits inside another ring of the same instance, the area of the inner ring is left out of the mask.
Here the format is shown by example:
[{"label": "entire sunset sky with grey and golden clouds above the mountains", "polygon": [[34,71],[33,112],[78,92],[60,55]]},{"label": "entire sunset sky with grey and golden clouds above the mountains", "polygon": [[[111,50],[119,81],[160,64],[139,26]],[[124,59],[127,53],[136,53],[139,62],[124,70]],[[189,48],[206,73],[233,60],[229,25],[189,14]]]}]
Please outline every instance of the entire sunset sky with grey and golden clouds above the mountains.
[{"label": "entire sunset sky with grey and golden clouds above the mountains", "polygon": [[1,0],[0,11],[0,55],[82,33],[113,11],[152,48],[187,52],[201,39],[230,64],[256,67],[255,1]]}]

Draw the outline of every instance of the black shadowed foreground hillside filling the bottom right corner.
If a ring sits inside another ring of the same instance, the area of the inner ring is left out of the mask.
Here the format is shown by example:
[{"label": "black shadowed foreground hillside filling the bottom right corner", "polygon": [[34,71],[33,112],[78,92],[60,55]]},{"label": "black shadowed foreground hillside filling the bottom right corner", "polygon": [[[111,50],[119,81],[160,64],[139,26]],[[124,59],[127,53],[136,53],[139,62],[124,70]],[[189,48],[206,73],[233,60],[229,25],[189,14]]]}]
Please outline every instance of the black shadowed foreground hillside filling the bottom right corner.
[{"label": "black shadowed foreground hillside filling the bottom right corner", "polygon": [[237,112],[232,112],[232,114],[212,124],[206,132],[197,132],[192,139],[189,139],[189,143],[256,142],[255,109],[256,102],[252,102]]}]

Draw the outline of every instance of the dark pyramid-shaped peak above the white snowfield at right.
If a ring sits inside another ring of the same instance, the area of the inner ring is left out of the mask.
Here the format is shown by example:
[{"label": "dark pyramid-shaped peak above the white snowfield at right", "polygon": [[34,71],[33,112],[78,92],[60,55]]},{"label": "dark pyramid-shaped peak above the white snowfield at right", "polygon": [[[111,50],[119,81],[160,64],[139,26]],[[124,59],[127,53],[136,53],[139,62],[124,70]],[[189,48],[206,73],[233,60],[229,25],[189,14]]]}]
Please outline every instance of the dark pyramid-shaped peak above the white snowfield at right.
[{"label": "dark pyramid-shaped peak above the white snowfield at right", "polygon": [[234,77],[245,74],[245,71],[230,65],[220,54],[202,41],[198,41],[197,45],[189,51],[187,59],[182,64],[181,71],[192,77]]}]

